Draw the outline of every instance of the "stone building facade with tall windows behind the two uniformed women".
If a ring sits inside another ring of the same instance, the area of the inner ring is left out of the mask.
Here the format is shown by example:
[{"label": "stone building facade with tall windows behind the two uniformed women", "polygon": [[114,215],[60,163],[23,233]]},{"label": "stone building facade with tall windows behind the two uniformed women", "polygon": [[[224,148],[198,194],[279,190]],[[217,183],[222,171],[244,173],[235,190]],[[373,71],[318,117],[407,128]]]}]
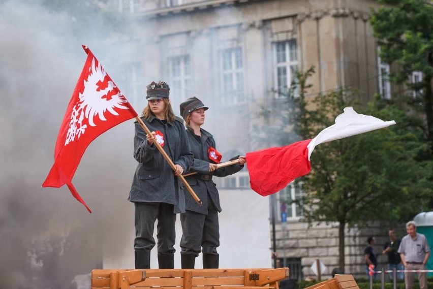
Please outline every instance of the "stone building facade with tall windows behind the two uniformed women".
[{"label": "stone building facade with tall windows behind the two uniformed women", "polygon": [[[263,124],[260,108],[287,101],[284,92],[296,70],[316,68],[310,98],[341,87],[362,90],[362,102],[390,92],[381,74],[389,67],[378,60],[368,23],[373,0],[109,0],[108,5],[132,24],[129,33],[110,40],[119,51],[119,75],[129,100],[144,107],[144,87],[153,80],[169,83],[176,113],[183,100],[200,98],[210,107],[205,129],[227,158],[268,146],[253,142],[257,125]],[[249,189],[248,173],[219,185],[223,191]],[[335,224],[309,228],[296,205],[286,208],[287,222],[279,218],[279,201],[301,194],[302,188],[291,184],[276,196],[277,256],[293,266],[296,278],[313,275],[310,267],[318,258],[330,274],[338,264]],[[380,233],[386,231],[348,230],[345,272],[364,275],[365,240]],[[378,251],[384,241],[378,238]]]}]

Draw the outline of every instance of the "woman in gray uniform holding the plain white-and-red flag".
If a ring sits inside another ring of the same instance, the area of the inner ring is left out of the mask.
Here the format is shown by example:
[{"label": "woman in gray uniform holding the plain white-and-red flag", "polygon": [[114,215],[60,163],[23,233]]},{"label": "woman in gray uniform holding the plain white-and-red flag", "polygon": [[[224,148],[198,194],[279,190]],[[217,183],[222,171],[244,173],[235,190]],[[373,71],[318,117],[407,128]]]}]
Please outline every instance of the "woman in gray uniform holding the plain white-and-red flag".
[{"label": "woman in gray uniform holding the plain white-and-red flag", "polygon": [[180,114],[187,124],[187,136],[194,161],[190,172],[197,174],[186,177],[202,205],[185,195],[186,211],[180,215],[183,235],[180,240],[181,266],[192,269],[198,254],[203,252],[203,268],[218,268],[220,245],[220,226],[218,213],[221,212],[220,196],[212,182],[212,176],[225,177],[240,171],[245,164],[244,156],[236,156],[239,164],[217,169],[218,152],[211,134],[201,129],[204,111],[208,108],[193,97],[180,104]]}]

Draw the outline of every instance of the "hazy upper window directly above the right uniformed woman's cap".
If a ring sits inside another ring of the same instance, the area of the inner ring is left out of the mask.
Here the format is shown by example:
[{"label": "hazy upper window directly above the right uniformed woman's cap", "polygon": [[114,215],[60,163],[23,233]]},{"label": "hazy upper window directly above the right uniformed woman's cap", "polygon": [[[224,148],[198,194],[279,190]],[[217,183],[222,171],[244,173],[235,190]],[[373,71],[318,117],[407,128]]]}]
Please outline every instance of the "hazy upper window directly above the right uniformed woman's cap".
[{"label": "hazy upper window directly above the right uniformed woman's cap", "polygon": [[176,91],[175,97],[181,102],[191,97],[191,60],[189,55],[171,57],[170,83],[172,91]]}]

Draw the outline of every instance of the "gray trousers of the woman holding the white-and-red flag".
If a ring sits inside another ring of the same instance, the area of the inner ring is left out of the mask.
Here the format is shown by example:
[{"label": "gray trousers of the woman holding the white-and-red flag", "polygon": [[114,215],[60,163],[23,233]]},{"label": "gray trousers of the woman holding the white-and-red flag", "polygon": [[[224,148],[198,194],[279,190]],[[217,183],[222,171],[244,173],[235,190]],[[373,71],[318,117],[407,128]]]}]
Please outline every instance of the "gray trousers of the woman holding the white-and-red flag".
[{"label": "gray trousers of the woman holding the white-and-red flag", "polygon": [[220,246],[218,211],[210,200],[209,203],[207,215],[189,210],[180,214],[183,232],[180,239],[181,254],[198,256],[200,251],[204,254],[218,254],[217,247]]}]

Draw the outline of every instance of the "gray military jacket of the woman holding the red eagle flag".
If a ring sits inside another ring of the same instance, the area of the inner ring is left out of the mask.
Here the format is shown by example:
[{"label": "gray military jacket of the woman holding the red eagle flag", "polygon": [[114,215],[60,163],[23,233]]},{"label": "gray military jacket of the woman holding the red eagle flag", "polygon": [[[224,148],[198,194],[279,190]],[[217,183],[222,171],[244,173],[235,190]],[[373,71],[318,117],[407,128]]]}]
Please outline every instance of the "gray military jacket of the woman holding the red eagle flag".
[{"label": "gray military jacket of the woman holding the red eagle flag", "polygon": [[[164,123],[152,116],[149,120],[141,118],[148,129],[160,131],[164,136],[164,151],[180,165],[184,172],[190,168],[193,155],[190,151],[183,121],[176,118],[173,122]],[[156,146],[149,145],[146,133],[138,122],[135,122],[134,158],[138,162],[131,185],[128,200],[131,202],[163,202],[175,205],[175,213],[185,211],[185,199],[181,189],[181,181],[167,160]]]}]

